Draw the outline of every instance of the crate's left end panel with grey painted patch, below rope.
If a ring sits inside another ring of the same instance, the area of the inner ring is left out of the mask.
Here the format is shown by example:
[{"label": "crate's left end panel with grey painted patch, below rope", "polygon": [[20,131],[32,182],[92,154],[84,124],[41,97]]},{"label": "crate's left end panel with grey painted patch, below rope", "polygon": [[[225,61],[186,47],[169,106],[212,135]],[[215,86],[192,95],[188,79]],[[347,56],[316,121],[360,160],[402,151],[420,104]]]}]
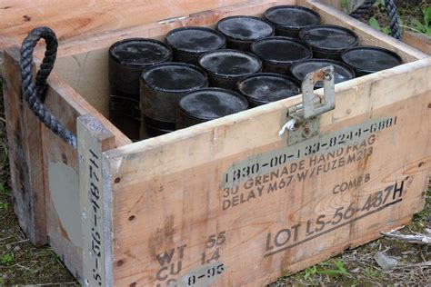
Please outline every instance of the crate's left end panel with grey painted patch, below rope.
[{"label": "crate's left end panel with grey painted patch, below rope", "polygon": [[82,231],[76,151],[42,127],[48,243],[76,280],[82,278]]}]

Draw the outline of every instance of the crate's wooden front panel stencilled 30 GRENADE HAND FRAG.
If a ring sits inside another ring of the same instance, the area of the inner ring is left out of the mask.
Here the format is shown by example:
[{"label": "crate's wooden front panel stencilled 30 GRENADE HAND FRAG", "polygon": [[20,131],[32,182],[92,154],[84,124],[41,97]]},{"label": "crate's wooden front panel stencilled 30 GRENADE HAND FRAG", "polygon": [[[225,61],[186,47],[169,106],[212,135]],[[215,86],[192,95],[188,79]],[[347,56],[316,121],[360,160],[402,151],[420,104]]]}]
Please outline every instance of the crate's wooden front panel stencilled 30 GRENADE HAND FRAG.
[{"label": "crate's wooden front panel stencilled 30 GRENADE HAND FRAG", "polygon": [[431,172],[429,73],[430,58],[338,84],[319,142],[279,137],[296,96],[105,152],[115,283],[216,268],[215,286],[266,284],[406,223]]}]

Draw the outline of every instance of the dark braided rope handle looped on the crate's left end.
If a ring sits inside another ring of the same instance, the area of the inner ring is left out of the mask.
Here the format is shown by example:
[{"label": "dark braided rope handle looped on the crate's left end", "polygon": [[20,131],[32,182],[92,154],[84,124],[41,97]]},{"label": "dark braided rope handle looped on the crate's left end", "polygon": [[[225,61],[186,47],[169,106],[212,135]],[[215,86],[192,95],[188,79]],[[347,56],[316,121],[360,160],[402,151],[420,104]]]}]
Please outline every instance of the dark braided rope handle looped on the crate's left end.
[{"label": "dark braided rope handle looped on the crate's left end", "polygon": [[[33,83],[33,52],[40,39],[45,39],[46,51],[44,60],[35,76],[35,83]],[[57,46],[55,33],[48,27],[35,28],[25,37],[21,47],[20,59],[23,95],[28,106],[40,121],[54,134],[62,138],[65,143],[69,143],[76,149],[76,135],[69,131],[64,124],[61,124],[51,112],[46,110],[43,104],[47,88],[46,79],[53,70]]]}]

